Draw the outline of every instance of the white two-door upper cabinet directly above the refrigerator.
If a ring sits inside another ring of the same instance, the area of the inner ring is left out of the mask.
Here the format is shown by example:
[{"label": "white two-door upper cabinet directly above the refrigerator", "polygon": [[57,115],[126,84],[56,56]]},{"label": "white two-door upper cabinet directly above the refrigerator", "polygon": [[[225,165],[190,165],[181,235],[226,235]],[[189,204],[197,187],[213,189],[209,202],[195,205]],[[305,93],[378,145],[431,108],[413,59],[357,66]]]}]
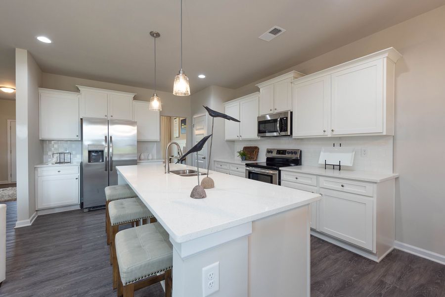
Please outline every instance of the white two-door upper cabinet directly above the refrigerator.
[{"label": "white two-door upper cabinet directly above the refrigerator", "polygon": [[77,86],[81,91],[80,117],[132,120],[134,93]]}]

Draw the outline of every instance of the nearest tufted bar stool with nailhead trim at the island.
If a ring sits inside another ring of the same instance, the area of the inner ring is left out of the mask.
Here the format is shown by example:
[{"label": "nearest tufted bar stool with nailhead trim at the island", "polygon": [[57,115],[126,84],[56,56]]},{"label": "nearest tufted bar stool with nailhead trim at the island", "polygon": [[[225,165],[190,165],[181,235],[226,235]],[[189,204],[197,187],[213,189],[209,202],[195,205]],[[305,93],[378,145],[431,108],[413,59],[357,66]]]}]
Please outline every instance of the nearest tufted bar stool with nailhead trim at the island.
[{"label": "nearest tufted bar stool with nailhead trim at the island", "polygon": [[[172,296],[173,247],[161,224],[153,223],[120,231],[115,239],[118,297],[165,280],[165,296]],[[158,275],[159,273],[163,272]]]}]

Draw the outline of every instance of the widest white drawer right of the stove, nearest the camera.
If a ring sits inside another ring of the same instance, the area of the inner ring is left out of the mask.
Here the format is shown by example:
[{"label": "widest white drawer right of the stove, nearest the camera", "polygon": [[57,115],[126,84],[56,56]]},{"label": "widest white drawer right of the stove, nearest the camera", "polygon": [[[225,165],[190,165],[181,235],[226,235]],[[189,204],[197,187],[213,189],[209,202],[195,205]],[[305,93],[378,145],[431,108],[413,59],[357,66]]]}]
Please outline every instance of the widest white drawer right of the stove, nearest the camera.
[{"label": "widest white drawer right of the stove, nearest the camera", "polygon": [[320,188],[337,190],[372,197],[374,195],[374,184],[358,182],[353,180],[334,179],[319,177]]}]

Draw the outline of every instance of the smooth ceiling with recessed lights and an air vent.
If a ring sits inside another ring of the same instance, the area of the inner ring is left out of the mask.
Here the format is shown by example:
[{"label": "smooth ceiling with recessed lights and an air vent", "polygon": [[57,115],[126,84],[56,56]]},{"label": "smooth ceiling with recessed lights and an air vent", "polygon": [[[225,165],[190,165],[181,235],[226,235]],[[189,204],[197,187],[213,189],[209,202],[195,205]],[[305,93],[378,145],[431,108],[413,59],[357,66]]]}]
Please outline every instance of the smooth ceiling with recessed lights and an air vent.
[{"label": "smooth ceiling with recessed lights and an air vent", "polygon": [[[191,92],[238,88],[439,7],[445,0],[184,0],[183,69]],[[171,92],[179,70],[179,0],[1,0],[0,86],[14,48],[42,71]],[[272,26],[287,31],[270,42]],[[36,40],[50,38],[52,44]],[[199,79],[198,74],[207,77]],[[5,98],[4,94],[0,94]],[[9,95],[12,97],[13,95]],[[11,98],[9,98],[11,99]]]}]

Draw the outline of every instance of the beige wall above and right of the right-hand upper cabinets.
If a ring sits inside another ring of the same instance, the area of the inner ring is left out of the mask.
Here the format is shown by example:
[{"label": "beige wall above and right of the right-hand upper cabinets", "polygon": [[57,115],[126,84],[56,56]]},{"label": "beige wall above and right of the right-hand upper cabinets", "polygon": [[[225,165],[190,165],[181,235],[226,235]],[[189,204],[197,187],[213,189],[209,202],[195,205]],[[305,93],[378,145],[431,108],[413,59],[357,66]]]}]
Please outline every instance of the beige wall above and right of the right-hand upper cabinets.
[{"label": "beige wall above and right of the right-hand upper cabinets", "polygon": [[[287,68],[310,74],[354,58],[394,47],[396,136],[394,172],[396,240],[445,255],[445,6],[347,46]],[[235,90],[240,97],[258,89],[253,82]]]}]

